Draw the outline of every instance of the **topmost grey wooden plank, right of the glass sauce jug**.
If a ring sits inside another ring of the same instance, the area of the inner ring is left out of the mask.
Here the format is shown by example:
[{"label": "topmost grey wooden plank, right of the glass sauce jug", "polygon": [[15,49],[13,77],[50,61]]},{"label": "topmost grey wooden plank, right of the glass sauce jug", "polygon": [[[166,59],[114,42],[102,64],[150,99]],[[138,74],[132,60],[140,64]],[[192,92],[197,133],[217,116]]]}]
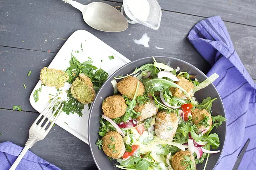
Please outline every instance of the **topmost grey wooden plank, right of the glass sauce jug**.
[{"label": "topmost grey wooden plank, right of the glass sauce jug", "polygon": [[224,21],[256,26],[255,0],[159,0],[159,3],[163,10],[202,17],[220,15]]}]

